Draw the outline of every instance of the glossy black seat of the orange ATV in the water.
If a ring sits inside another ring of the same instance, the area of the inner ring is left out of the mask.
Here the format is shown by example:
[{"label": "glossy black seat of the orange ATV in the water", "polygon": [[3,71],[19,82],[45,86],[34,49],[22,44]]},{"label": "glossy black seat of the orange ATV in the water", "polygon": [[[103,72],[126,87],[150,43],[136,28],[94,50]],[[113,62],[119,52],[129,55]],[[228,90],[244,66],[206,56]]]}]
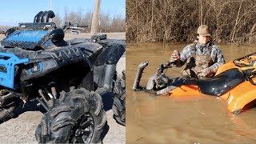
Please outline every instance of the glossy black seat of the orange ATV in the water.
[{"label": "glossy black seat of the orange ATV in the water", "polygon": [[238,68],[226,70],[213,78],[198,80],[198,87],[202,94],[220,96],[245,80],[245,75]]}]

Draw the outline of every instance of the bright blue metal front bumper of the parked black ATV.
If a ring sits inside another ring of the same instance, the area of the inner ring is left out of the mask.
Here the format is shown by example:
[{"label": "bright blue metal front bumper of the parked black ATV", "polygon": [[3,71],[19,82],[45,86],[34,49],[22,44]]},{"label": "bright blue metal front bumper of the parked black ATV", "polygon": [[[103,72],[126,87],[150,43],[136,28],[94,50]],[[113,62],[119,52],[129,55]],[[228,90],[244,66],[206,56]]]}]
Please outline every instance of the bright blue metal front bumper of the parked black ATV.
[{"label": "bright blue metal front bumper of the parked black ATV", "polygon": [[25,62],[30,62],[30,59],[0,52],[0,85],[14,89],[15,66]]}]

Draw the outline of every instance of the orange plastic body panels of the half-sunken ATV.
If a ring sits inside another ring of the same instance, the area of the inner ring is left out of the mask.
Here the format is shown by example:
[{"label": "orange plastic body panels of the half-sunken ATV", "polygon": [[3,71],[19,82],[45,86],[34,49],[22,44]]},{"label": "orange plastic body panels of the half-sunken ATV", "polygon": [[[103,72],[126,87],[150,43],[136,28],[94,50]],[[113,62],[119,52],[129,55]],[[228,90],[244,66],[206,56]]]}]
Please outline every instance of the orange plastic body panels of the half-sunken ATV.
[{"label": "orange plastic body panels of the half-sunken ATV", "polygon": [[[235,66],[233,62],[227,62],[218,68],[216,75],[232,68],[247,70],[255,69],[255,66],[238,67]],[[253,78],[253,81],[256,82],[256,78]],[[167,94],[162,95],[169,95],[171,97],[191,97],[205,96],[206,94],[202,94],[200,90],[198,90],[198,86],[183,85],[174,90],[170,90],[170,92]],[[228,110],[230,112],[233,114],[239,114],[246,104],[256,99],[256,86],[251,84],[249,81],[245,81],[226,92],[226,94],[222,94],[220,98],[228,102]]]}]

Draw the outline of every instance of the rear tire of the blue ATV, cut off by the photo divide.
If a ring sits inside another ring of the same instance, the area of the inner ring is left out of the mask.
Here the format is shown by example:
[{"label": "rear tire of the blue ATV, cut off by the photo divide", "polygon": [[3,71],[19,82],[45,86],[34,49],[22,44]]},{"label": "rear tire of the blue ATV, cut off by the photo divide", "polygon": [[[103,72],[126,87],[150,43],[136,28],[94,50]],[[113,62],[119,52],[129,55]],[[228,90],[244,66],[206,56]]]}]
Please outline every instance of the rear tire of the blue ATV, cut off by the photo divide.
[{"label": "rear tire of the blue ATV, cut off by the photo divide", "polygon": [[114,83],[114,102],[112,110],[115,120],[126,126],[126,72],[122,71],[122,77]]}]

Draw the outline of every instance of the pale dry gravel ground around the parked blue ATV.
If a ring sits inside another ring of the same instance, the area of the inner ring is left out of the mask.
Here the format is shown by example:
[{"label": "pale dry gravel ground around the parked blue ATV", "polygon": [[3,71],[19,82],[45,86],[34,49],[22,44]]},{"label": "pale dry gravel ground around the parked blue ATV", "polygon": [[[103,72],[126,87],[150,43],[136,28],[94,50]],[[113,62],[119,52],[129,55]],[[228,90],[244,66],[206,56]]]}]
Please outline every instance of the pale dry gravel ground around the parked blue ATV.
[{"label": "pale dry gravel ground around the parked blue ATV", "polygon": [[[65,38],[89,38],[90,34],[82,33],[78,35],[66,34]],[[0,34],[0,40],[5,38],[4,34]],[[107,38],[125,39],[125,33],[110,33]],[[126,54],[118,62],[118,75],[122,70],[126,69]],[[113,118],[111,106],[113,103],[113,95],[103,96],[104,109],[106,110],[107,126],[103,133],[103,143],[126,143],[126,127],[119,125]],[[106,103],[105,103],[106,102]],[[35,139],[34,132],[42,118],[42,113],[38,111],[27,111],[18,116],[18,118],[10,119],[0,125],[0,143],[38,143]]]}]

